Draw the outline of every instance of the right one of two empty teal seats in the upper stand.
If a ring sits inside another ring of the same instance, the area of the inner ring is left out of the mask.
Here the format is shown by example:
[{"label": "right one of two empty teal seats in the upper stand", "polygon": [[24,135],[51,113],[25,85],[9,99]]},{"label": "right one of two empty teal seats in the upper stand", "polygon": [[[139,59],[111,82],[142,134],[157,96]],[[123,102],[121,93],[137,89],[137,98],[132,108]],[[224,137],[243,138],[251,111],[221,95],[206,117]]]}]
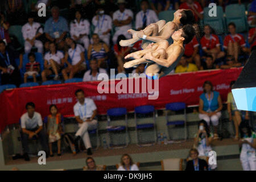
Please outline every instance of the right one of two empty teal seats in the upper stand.
[{"label": "right one of two empty teal seats in the upper stand", "polygon": [[245,14],[245,5],[232,4],[226,6],[226,25],[230,22],[236,24],[238,33],[248,31],[247,18]]}]

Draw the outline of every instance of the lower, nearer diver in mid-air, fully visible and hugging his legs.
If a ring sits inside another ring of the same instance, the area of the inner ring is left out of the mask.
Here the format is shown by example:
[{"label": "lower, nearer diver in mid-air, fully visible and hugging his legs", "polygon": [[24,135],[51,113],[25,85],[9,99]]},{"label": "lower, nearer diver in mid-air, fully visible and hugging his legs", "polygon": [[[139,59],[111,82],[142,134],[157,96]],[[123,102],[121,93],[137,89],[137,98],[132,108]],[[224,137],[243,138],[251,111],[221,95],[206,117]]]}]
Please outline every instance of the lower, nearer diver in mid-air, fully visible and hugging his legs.
[{"label": "lower, nearer diver in mid-air, fully visible and hugging his legs", "polygon": [[184,44],[191,42],[194,36],[195,29],[187,24],[172,34],[171,38],[174,43],[170,46],[167,40],[151,43],[146,49],[127,55],[125,59],[133,57],[135,60],[125,63],[123,67],[131,68],[147,63],[145,72],[148,79],[156,80],[168,75],[179,63],[184,53]]}]

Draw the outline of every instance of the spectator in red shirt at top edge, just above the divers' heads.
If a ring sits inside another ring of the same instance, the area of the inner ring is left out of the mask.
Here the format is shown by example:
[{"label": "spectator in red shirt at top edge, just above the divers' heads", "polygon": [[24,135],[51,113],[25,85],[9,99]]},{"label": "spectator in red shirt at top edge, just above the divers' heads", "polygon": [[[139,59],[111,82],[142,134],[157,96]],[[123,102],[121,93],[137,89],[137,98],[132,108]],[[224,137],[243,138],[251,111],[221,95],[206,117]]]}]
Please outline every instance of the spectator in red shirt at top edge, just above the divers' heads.
[{"label": "spectator in red shirt at top edge, just above the divers' heads", "polygon": [[203,19],[203,9],[199,2],[193,1],[193,0],[187,0],[186,2],[182,3],[180,5],[179,9],[185,9],[185,10],[192,10],[195,16],[196,22],[199,21],[199,19]]}]

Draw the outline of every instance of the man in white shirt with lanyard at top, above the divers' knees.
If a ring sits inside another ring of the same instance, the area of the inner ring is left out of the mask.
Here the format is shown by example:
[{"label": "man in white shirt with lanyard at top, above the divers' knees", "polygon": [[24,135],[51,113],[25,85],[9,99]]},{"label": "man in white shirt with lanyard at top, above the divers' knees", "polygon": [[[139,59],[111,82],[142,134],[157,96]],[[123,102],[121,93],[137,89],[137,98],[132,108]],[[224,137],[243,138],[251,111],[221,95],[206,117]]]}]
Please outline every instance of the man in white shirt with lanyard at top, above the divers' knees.
[{"label": "man in white shirt with lanyard at top, above the divers' knees", "polygon": [[158,22],[155,11],[148,9],[148,1],[141,1],[141,11],[136,15],[136,29],[143,30],[148,24]]}]

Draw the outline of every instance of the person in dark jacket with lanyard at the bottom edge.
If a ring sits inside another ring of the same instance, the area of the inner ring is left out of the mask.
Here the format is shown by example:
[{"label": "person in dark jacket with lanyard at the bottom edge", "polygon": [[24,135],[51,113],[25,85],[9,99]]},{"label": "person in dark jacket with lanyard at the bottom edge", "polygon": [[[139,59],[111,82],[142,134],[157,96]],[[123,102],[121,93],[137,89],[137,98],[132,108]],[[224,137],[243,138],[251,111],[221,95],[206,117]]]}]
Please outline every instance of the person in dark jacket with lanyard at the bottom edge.
[{"label": "person in dark jacket with lanyard at the bottom edge", "polygon": [[199,159],[198,155],[199,152],[195,148],[189,151],[189,156],[192,160],[187,162],[185,171],[208,171],[207,162],[204,159]]}]

